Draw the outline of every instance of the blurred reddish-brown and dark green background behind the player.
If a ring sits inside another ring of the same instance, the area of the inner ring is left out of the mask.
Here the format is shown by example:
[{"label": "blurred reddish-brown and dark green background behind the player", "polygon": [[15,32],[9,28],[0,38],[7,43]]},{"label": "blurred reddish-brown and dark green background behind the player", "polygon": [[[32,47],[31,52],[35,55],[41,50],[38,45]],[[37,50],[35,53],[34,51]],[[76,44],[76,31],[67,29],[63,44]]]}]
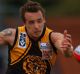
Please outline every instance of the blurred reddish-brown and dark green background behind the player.
[{"label": "blurred reddish-brown and dark green background behind the player", "polygon": [[[54,31],[65,29],[72,35],[74,49],[80,45],[80,0],[32,0],[40,2],[46,10],[47,26]],[[19,8],[27,0],[0,0],[0,31],[23,24]],[[8,48],[0,46],[0,74],[5,74],[8,64]],[[80,63],[74,58],[65,58],[58,54],[55,74],[80,74]]]}]

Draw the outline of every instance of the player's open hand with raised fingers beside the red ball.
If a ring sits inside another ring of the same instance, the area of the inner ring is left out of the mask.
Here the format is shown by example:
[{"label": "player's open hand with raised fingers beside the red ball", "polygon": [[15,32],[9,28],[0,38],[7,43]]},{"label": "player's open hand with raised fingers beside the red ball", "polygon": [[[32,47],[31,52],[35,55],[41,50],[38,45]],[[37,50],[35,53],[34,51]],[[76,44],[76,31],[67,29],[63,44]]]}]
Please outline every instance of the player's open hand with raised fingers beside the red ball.
[{"label": "player's open hand with raised fingers beside the red ball", "polygon": [[67,30],[64,30],[64,39],[62,41],[62,53],[65,56],[71,56],[73,53],[73,46],[72,46],[72,40],[71,35],[67,33]]}]

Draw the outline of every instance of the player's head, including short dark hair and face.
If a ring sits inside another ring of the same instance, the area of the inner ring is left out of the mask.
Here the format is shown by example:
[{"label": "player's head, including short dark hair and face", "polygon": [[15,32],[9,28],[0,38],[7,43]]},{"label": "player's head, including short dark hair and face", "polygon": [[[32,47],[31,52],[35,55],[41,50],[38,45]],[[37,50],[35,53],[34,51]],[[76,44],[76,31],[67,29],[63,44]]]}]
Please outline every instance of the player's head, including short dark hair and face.
[{"label": "player's head, including short dark hair and face", "polygon": [[41,35],[45,23],[45,12],[37,2],[29,1],[21,7],[21,17],[28,34],[37,38]]}]

